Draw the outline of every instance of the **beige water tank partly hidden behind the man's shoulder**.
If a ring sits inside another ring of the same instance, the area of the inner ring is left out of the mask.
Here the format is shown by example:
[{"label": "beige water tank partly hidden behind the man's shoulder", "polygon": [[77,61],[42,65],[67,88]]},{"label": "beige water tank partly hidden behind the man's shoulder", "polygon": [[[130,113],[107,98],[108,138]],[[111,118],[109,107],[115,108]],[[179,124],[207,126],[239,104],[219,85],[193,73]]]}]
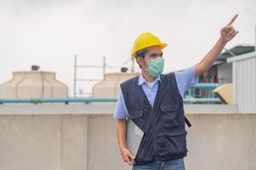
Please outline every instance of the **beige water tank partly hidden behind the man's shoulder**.
[{"label": "beige water tank partly hidden behind the man's shoulder", "polygon": [[118,72],[105,74],[104,80],[94,85],[93,96],[117,98],[120,83],[137,76],[139,76],[139,73]]}]

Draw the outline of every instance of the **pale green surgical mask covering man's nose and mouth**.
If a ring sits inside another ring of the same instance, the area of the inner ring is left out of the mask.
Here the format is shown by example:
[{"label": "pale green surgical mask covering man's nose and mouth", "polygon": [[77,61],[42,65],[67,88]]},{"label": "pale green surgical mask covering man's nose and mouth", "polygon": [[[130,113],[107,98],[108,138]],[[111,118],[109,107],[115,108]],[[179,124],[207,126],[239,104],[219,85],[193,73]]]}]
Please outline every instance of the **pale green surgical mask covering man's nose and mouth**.
[{"label": "pale green surgical mask covering man's nose and mouth", "polygon": [[151,59],[147,61],[149,68],[145,69],[148,71],[152,77],[157,77],[163,71],[164,59],[162,57],[157,57],[156,59]]}]

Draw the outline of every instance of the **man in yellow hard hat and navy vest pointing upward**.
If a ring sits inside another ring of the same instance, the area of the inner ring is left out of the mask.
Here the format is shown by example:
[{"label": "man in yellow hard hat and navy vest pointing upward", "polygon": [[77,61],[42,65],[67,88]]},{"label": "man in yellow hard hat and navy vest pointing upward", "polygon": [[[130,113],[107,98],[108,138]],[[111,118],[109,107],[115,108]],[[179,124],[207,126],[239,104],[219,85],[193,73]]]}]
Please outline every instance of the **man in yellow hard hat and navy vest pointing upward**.
[{"label": "man in yellow hard hat and navy vest pointing upward", "polygon": [[[122,82],[114,117],[123,161],[133,169],[184,170],[187,154],[183,95],[186,88],[198,82],[198,77],[213,65],[225,44],[236,36],[230,22],[220,30],[218,42],[196,65],[185,71],[161,74],[164,59],[162,48],[167,46],[151,33],[141,34],[134,42],[132,57],[141,73]],[[143,132],[136,157],[126,147],[126,118]]]}]

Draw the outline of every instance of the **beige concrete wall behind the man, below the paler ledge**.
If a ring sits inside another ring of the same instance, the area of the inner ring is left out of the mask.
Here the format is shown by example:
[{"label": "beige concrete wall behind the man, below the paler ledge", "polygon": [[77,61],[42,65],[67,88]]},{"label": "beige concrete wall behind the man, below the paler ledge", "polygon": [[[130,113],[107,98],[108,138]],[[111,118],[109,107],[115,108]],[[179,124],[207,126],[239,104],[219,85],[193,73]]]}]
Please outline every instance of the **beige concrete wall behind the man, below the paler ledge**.
[{"label": "beige concrete wall behind the man, below the paler ledge", "polygon": [[[256,114],[191,114],[188,170],[256,168]],[[129,169],[111,114],[0,115],[1,170]]]}]

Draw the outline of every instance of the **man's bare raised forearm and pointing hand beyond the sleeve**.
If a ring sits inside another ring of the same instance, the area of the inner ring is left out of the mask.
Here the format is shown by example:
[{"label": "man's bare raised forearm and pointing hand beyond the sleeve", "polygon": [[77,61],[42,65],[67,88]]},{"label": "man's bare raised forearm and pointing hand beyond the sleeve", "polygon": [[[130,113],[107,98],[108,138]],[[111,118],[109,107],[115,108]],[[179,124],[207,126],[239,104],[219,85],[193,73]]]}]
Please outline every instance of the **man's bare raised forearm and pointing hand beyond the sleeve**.
[{"label": "man's bare raised forearm and pointing hand beyond the sleeve", "polygon": [[214,61],[218,58],[220,52],[225,47],[225,44],[229,42],[233,37],[236,36],[238,31],[236,31],[232,24],[236,20],[238,14],[236,14],[230,22],[220,30],[220,37],[218,42],[215,43],[213,48],[206,54],[206,56],[196,64],[195,75],[200,76],[203,72],[208,71],[213,65]]}]

